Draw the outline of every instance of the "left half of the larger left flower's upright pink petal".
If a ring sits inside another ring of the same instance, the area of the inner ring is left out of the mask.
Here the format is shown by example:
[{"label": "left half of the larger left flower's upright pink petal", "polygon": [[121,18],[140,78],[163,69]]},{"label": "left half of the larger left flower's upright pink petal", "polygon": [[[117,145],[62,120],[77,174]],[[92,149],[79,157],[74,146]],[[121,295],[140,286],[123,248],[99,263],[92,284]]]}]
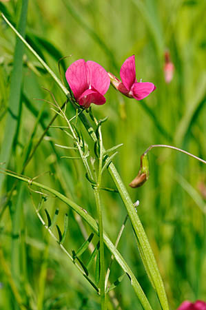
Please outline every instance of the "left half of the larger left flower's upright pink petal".
[{"label": "left half of the larger left flower's upright pink petal", "polygon": [[87,83],[87,68],[84,59],[74,61],[66,71],[65,77],[74,93],[75,99],[78,99],[79,96],[89,88]]}]

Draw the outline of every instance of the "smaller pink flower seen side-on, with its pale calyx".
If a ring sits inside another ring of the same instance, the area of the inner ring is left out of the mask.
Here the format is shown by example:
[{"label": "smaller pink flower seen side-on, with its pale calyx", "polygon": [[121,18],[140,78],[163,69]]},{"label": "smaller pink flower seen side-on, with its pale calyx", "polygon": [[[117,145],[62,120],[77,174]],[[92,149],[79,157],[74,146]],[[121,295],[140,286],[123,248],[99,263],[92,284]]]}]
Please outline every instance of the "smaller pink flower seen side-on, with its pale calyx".
[{"label": "smaller pink flower seen side-on, with its pale calyx", "polygon": [[112,85],[119,90],[122,94],[129,98],[141,100],[147,97],[153,92],[156,87],[150,82],[136,81],[136,69],[135,69],[135,57],[130,56],[125,60],[121,66],[120,76],[122,82],[114,76],[114,74],[108,72]]}]

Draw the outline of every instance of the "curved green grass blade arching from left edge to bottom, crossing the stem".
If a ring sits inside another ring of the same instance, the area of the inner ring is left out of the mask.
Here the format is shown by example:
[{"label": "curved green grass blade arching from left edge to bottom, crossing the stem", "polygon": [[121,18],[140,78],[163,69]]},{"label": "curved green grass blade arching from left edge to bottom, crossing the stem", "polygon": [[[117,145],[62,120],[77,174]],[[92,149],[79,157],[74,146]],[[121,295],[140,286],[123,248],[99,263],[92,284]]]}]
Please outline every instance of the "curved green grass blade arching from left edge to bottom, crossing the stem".
[{"label": "curved green grass blade arching from left edge to bottom, crossing the stem", "polygon": [[[43,185],[41,183],[38,183],[36,181],[32,181],[30,178],[27,178],[25,176],[19,176],[17,174],[13,174],[8,171],[4,171],[3,173],[7,174],[8,176],[12,176],[13,178],[17,178],[18,180],[22,180],[23,182],[28,183],[28,185],[35,185],[41,189],[45,189],[45,191],[50,192],[57,198],[59,198],[61,201],[63,201],[66,205],[71,207],[77,214],[79,214],[85,222],[90,225],[90,227],[93,229],[93,231],[99,235],[99,227],[96,224],[96,220],[90,216],[90,214],[87,214],[85,209],[74,203],[71,199],[68,197],[65,197],[63,194],[57,192],[55,189],[52,189],[46,185]],[[143,289],[139,285],[138,281],[136,280],[136,277],[134,276],[134,273],[132,273],[132,270],[130,267],[127,265],[127,262],[123,259],[119,251],[116,249],[116,247],[113,245],[113,243],[110,241],[110,238],[108,238],[107,234],[103,232],[103,239],[105,242],[105,245],[107,249],[111,252],[111,254],[114,255],[114,258],[116,259],[116,262],[121,266],[123,271],[127,273],[127,276],[130,278],[130,282],[132,287],[134,288],[134,291],[136,295],[138,296],[138,299],[140,300],[143,309],[145,310],[152,310],[152,307],[150,306],[149,301],[147,300],[147,297],[145,296],[145,293],[143,292]]]}]

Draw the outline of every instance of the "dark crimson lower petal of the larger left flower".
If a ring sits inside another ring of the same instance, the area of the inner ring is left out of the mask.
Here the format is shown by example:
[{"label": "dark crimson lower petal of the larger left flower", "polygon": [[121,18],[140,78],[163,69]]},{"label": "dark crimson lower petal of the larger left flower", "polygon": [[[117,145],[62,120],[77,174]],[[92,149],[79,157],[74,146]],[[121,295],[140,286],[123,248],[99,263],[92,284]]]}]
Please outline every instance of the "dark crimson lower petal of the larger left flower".
[{"label": "dark crimson lower petal of the larger left flower", "polygon": [[106,102],[105,97],[100,94],[100,92],[97,92],[96,90],[85,90],[83,94],[79,97],[77,100],[80,105],[83,105],[83,107],[90,107],[91,103],[94,103],[96,105],[103,105]]}]

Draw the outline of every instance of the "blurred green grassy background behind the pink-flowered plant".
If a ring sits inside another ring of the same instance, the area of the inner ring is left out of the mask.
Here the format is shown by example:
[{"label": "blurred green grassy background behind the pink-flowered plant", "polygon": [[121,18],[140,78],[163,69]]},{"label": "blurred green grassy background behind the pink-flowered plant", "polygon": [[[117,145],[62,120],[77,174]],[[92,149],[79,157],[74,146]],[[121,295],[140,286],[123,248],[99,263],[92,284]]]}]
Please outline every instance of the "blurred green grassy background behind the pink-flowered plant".
[{"label": "blurred green grassy background behind the pink-flowered plant", "polygon": [[[138,189],[128,186],[138,173],[141,154],[152,144],[174,145],[206,158],[205,1],[35,0],[28,3],[26,26],[21,4],[21,0],[1,0],[0,9],[13,25],[22,31],[25,28],[27,41],[58,76],[58,61],[63,56],[68,57],[60,63],[62,76],[72,62],[85,59],[100,63],[119,77],[123,61],[135,54],[137,80],[156,85],[144,101],[127,99],[110,87],[105,105],[93,106],[92,110],[97,118],[109,116],[102,128],[105,147],[123,143],[114,163],[132,200],[140,201],[138,214],[156,256],[171,309],[183,300],[206,300],[204,164],[173,150],[152,149],[149,180]],[[26,158],[54,116],[50,104],[42,101],[51,100],[42,87],[48,88],[59,104],[65,97],[28,50],[16,47],[14,53],[17,37],[2,18],[0,32],[0,161],[1,167],[21,173]],[[67,114],[74,116],[72,107],[68,106]],[[57,117],[53,125],[65,123]],[[80,122],[78,127],[93,152]],[[55,147],[54,143],[71,146],[72,139],[50,128],[23,174],[39,176],[39,182],[71,197],[96,218],[94,196],[83,164],[61,159],[75,153]],[[33,203],[38,206],[41,196],[26,184],[14,183],[13,178],[0,174],[0,308],[19,309],[20,295],[27,309],[100,309],[96,291],[76,271],[35,214]],[[114,188],[107,172],[103,185]],[[103,192],[102,200],[105,231],[115,242],[126,210],[118,194]],[[59,208],[57,223],[61,229],[68,213],[69,233],[64,245],[68,251],[76,251],[84,241],[83,229],[90,234],[90,228],[51,195],[45,207],[51,216]],[[42,216],[46,219],[43,211]],[[119,251],[153,309],[160,309],[129,221]],[[87,250],[83,260],[89,255]],[[108,264],[108,251],[105,259]],[[110,281],[121,274],[114,262]],[[119,301],[119,309],[141,309],[128,278],[116,287],[114,298]],[[109,309],[118,309],[111,300],[108,304]]]}]

